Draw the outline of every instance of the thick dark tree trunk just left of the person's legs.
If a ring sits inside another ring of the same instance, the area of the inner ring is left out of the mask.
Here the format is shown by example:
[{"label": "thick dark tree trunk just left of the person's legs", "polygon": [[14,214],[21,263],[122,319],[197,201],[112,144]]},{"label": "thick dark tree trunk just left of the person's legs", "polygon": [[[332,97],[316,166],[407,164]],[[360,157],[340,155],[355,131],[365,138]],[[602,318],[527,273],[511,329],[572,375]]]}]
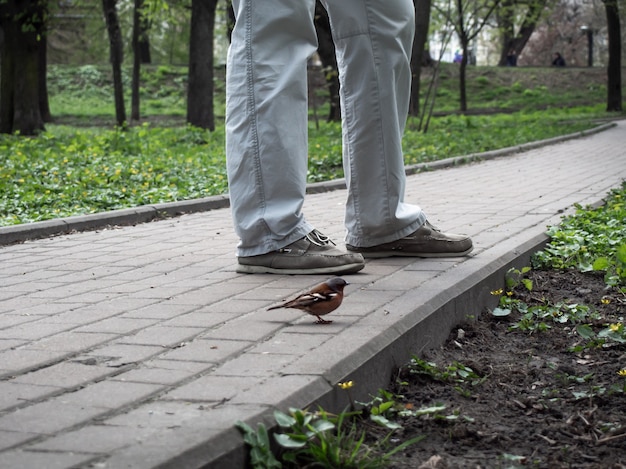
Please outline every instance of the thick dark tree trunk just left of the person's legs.
[{"label": "thick dark tree trunk just left of the person's legs", "polygon": [[218,0],[192,0],[189,38],[187,122],[215,130],[213,111],[213,34]]}]

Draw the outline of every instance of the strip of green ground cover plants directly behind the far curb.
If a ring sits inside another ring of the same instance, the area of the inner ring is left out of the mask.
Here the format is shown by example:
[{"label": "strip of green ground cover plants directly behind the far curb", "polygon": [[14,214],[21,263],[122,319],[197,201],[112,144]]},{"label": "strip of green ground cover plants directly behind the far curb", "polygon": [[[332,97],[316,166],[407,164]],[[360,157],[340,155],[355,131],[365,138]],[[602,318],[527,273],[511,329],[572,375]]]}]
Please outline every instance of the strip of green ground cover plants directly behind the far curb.
[{"label": "strip of green ground cover plants directly behind the far curb", "polygon": [[[564,124],[555,114],[520,116],[519,126],[514,119],[442,118],[427,134],[407,132],[405,161],[432,162],[594,125],[589,118]],[[343,177],[340,125],[324,122],[310,130],[309,182]],[[150,124],[127,130],[50,125],[38,138],[0,136],[0,154],[0,226],[228,191],[223,126],[209,132]]]}]

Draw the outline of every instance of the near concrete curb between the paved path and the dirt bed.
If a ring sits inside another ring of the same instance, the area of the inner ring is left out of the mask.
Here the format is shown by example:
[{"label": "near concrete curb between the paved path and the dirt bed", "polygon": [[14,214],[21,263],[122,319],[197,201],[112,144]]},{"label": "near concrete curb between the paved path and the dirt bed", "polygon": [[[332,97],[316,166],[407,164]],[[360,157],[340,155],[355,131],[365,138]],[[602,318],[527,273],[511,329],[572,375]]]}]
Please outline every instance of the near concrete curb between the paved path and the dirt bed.
[{"label": "near concrete curb between the paved path and the dirt bed", "polygon": [[[467,305],[475,306],[475,310],[481,314],[495,307],[498,299],[491,291],[504,287],[505,274],[510,268],[519,269],[529,265],[531,255],[542,249],[547,241],[545,226],[535,226],[506,243],[481,252],[481,259],[476,261],[483,265],[478,270],[475,270],[475,266],[461,263],[453,275],[445,275],[444,285],[441,277],[433,278],[419,291],[409,290],[401,297],[394,298],[390,309],[404,310],[402,319],[389,324],[367,345],[351,350],[349,355],[324,375],[311,376],[311,386],[289,396],[288,402],[277,402],[276,408],[295,406],[315,409],[320,406],[330,412],[340,412],[347,405],[346,397],[333,383],[344,379],[358,383],[353,388],[355,400],[369,401],[379,389],[388,387],[398,366],[408,363],[418,352],[419,346],[416,344],[423,344],[427,348],[443,344],[450,331],[467,319]],[[488,261],[483,262],[486,258]],[[277,430],[273,411],[273,408],[260,410],[250,415],[246,423],[256,428],[262,422],[268,430]],[[203,465],[207,462],[212,469],[247,467],[247,455],[248,448],[241,434],[232,428],[214,435],[208,442],[186,448],[178,456],[159,464],[158,468],[199,469],[207,467]]]}]

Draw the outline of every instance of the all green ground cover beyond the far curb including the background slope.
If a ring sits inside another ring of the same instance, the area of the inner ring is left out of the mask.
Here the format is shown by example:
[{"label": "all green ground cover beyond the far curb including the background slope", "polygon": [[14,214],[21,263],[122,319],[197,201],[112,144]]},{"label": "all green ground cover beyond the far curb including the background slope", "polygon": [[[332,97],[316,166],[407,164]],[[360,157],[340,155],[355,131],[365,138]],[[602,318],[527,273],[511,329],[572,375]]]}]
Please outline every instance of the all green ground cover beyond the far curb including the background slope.
[{"label": "all green ground cover beyond the far curb including the background slope", "polygon": [[[597,125],[598,119],[615,117],[602,110],[602,74],[581,78],[577,70],[555,75],[549,69],[511,71],[497,67],[474,67],[470,72],[470,106],[484,113],[457,115],[446,111],[456,105],[456,73],[453,65],[444,66],[438,88],[442,96],[435,107],[439,114],[427,133],[416,130],[417,118],[409,119],[404,137],[406,164],[578,132]],[[428,75],[427,70],[425,84]],[[0,136],[0,226],[228,191],[223,70],[217,71],[215,79],[218,125],[214,132],[184,124],[186,69],[144,67],[141,76],[145,117],[122,130],[110,124],[114,110],[107,67],[50,67],[54,122],[36,138]],[[129,90],[129,70],[125,70],[124,83]],[[500,91],[493,97],[495,88]],[[586,90],[586,101],[575,99],[581,88]],[[526,93],[532,97],[524,96],[525,90],[533,90]],[[323,89],[318,90],[318,94],[323,93]],[[545,112],[546,106],[552,106],[549,103],[554,102],[554,95],[561,102],[578,105],[555,104]],[[494,107],[497,102],[518,111],[496,112],[501,110]],[[327,109],[322,104],[311,113],[309,182],[343,177],[340,125],[319,119]]]}]

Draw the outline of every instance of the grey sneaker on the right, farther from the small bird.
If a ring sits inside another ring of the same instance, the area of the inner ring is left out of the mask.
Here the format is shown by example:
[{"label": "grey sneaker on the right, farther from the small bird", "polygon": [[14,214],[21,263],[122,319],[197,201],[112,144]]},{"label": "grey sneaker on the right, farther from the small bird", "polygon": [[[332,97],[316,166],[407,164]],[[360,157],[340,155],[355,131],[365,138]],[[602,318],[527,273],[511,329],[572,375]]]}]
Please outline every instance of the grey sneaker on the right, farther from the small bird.
[{"label": "grey sneaker on the right, farther from the small bird", "polygon": [[391,243],[368,248],[347,245],[348,251],[360,252],[365,258],[371,257],[457,257],[469,254],[474,246],[469,236],[442,233],[429,222],[417,231]]}]

